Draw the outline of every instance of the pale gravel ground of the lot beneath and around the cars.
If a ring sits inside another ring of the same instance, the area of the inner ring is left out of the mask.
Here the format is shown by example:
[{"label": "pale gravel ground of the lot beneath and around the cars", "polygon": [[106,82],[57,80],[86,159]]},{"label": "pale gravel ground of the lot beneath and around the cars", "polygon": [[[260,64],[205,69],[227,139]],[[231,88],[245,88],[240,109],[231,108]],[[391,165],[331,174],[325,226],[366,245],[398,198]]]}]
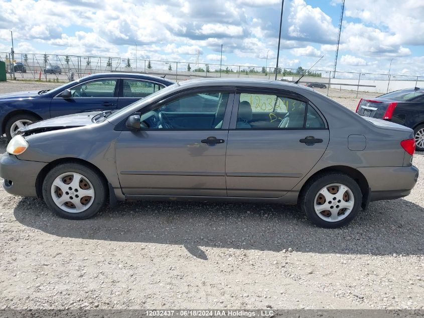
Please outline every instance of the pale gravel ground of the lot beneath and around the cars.
[{"label": "pale gravel ground of the lot beneath and around the cars", "polygon": [[[354,109],[350,95],[336,99]],[[270,204],[125,202],[69,221],[2,187],[0,309],[423,308],[423,218],[422,177],[336,230]]]}]

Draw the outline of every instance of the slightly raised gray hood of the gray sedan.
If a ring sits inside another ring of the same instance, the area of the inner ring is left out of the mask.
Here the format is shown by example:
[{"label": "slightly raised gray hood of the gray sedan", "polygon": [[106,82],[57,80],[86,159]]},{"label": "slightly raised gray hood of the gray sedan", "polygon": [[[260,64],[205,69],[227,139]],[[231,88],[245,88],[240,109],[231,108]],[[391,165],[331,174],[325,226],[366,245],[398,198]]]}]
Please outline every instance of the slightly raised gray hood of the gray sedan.
[{"label": "slightly raised gray hood of the gray sedan", "polygon": [[15,133],[15,135],[28,136],[28,135],[42,133],[46,131],[92,125],[93,117],[100,113],[101,112],[89,112],[89,113],[80,113],[80,114],[66,115],[66,116],[46,119],[43,121],[32,123],[30,125],[27,125],[19,129]]}]

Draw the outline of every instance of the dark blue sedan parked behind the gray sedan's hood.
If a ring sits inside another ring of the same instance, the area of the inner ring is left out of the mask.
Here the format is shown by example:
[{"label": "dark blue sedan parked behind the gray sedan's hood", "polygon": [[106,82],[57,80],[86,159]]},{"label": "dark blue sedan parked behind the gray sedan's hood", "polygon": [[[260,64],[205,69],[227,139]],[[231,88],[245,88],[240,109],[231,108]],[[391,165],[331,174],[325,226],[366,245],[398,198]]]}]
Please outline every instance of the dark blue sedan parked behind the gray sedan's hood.
[{"label": "dark blue sedan parked behind the gray sedan's hood", "polygon": [[10,140],[19,128],[57,116],[120,109],[173,81],[132,73],[93,74],[52,90],[0,95],[0,130]]}]

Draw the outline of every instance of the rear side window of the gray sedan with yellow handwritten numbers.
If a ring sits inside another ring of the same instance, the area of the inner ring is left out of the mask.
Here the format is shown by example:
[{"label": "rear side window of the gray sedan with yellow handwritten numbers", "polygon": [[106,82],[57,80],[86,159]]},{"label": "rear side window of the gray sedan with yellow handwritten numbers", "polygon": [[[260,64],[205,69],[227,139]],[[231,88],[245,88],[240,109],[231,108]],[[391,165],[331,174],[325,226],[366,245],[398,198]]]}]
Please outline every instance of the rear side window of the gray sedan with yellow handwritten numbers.
[{"label": "rear side window of the gray sedan with yellow handwritten numbers", "polygon": [[320,129],[325,124],[302,100],[284,95],[241,93],[236,128]]}]

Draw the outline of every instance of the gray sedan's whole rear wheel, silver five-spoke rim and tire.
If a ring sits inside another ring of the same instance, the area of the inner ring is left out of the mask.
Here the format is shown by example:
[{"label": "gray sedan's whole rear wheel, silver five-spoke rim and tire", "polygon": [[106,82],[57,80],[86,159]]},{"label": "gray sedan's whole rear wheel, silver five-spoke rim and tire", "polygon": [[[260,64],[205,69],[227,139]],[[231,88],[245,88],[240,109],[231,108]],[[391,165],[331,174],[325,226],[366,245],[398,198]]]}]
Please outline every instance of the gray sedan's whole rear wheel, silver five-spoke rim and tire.
[{"label": "gray sedan's whole rear wheel, silver five-spoke rim and tire", "polygon": [[339,228],[358,214],[362,202],[359,185],[346,174],[330,173],[311,180],[300,203],[308,219],[321,228]]}]

